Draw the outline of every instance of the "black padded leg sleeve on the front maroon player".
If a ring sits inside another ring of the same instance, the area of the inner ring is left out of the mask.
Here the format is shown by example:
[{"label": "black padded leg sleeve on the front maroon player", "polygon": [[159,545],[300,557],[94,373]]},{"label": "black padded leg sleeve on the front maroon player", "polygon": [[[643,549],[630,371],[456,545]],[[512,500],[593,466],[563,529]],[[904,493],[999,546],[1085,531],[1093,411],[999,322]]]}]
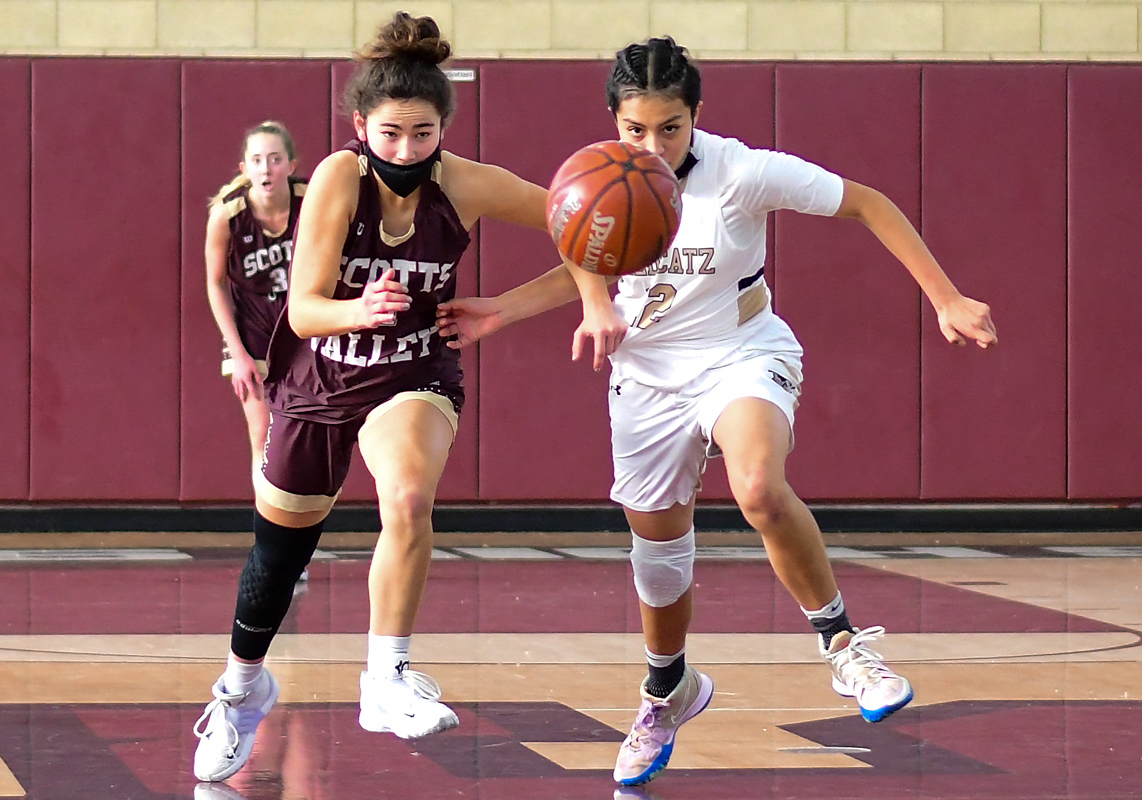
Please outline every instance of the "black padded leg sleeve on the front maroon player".
[{"label": "black padded leg sleeve on the front maroon player", "polygon": [[293,599],[293,584],[317,549],[324,522],[286,527],[254,512],[254,548],[238,583],[230,647],[239,658],[257,661],[270,650]]}]

